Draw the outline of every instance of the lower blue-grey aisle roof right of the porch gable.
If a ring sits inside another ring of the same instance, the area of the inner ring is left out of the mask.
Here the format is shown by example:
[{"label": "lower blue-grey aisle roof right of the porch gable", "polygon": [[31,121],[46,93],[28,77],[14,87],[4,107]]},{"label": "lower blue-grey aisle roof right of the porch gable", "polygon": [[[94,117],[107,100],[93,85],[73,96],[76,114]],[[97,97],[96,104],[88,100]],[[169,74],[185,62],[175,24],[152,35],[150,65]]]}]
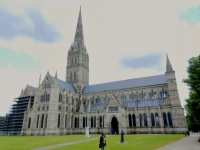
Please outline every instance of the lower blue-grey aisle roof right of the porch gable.
[{"label": "lower blue-grey aisle roof right of the porch gable", "polygon": [[145,100],[132,100],[132,101],[124,101],[124,102],[122,102],[122,105],[127,107],[127,108],[158,106],[164,100],[165,100],[165,98],[145,99]]}]

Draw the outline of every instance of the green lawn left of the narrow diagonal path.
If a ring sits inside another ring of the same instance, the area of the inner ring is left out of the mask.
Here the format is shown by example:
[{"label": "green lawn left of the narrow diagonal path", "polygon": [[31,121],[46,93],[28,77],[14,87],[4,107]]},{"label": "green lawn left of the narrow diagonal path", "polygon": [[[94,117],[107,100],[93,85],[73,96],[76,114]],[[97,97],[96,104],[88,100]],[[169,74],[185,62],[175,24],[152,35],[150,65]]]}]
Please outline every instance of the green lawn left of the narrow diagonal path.
[{"label": "green lawn left of the narrow diagonal path", "polygon": [[[91,138],[99,135],[90,135]],[[29,150],[87,139],[85,135],[64,136],[0,136],[0,150]]]}]

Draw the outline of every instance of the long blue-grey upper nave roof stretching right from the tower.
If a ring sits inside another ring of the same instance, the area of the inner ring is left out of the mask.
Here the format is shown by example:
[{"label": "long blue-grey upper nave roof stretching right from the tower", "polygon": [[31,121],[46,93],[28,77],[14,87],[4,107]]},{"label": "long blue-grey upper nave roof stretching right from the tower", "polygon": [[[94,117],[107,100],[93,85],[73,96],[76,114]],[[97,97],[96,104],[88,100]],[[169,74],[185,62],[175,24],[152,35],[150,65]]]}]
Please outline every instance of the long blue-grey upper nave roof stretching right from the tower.
[{"label": "long blue-grey upper nave roof stretching right from the tower", "polygon": [[101,83],[95,85],[87,85],[83,89],[83,94],[128,89],[128,88],[150,86],[150,85],[159,85],[166,83],[167,83],[166,76],[165,74],[162,74],[156,76],[114,81],[114,82]]}]

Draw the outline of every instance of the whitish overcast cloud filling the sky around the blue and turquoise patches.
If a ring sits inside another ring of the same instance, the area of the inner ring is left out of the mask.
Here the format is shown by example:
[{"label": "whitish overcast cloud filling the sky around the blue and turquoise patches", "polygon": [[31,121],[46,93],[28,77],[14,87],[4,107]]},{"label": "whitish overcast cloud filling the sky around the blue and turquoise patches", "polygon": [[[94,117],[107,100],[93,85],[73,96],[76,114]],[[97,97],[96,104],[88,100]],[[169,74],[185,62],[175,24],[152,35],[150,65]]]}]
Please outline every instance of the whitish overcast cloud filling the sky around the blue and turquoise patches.
[{"label": "whitish overcast cloud filling the sky around the blue and turquoise patches", "polygon": [[[187,1],[114,1],[114,0],[10,0],[4,5],[10,11],[21,13],[23,9],[36,7],[48,22],[56,25],[63,35],[62,41],[54,44],[41,44],[31,39],[18,38],[13,41],[0,40],[1,47],[7,47],[40,59],[43,70],[25,70],[21,73],[14,68],[0,69],[1,96],[0,114],[9,109],[14,97],[26,84],[38,85],[39,74],[52,75],[65,79],[67,51],[73,42],[79,6],[82,6],[85,45],[90,57],[90,84],[124,80],[128,78],[160,74],[152,69],[133,71],[122,69],[120,59],[124,56],[143,56],[152,53],[168,53],[176,71],[179,95],[184,103],[188,90],[182,79],[187,77],[187,60],[198,54],[200,26],[189,28],[179,22],[180,8],[199,5],[199,0]],[[190,34],[190,37],[188,36]],[[190,44],[188,46],[188,41]],[[163,65],[165,68],[165,64]],[[164,72],[163,72],[164,73]],[[17,79],[17,81],[16,81]],[[9,94],[8,94],[9,93]]]}]

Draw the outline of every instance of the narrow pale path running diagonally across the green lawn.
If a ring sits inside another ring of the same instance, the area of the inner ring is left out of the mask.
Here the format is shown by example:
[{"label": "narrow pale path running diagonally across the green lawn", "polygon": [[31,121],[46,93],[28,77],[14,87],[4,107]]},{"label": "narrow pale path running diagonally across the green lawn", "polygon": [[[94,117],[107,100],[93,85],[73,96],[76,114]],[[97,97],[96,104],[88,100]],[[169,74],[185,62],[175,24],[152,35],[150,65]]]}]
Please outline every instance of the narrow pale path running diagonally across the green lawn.
[{"label": "narrow pale path running diagonally across the green lawn", "polygon": [[87,140],[80,140],[80,141],[74,141],[74,142],[68,142],[68,143],[57,144],[57,145],[52,145],[52,146],[37,148],[37,149],[34,149],[34,150],[50,150],[50,149],[55,149],[55,148],[59,148],[59,147],[63,147],[63,146],[69,146],[69,145],[74,145],[74,144],[78,144],[78,143],[93,141],[93,140],[96,140],[96,139],[99,139],[99,137],[96,137],[96,138],[89,138],[89,139],[87,139]]}]

